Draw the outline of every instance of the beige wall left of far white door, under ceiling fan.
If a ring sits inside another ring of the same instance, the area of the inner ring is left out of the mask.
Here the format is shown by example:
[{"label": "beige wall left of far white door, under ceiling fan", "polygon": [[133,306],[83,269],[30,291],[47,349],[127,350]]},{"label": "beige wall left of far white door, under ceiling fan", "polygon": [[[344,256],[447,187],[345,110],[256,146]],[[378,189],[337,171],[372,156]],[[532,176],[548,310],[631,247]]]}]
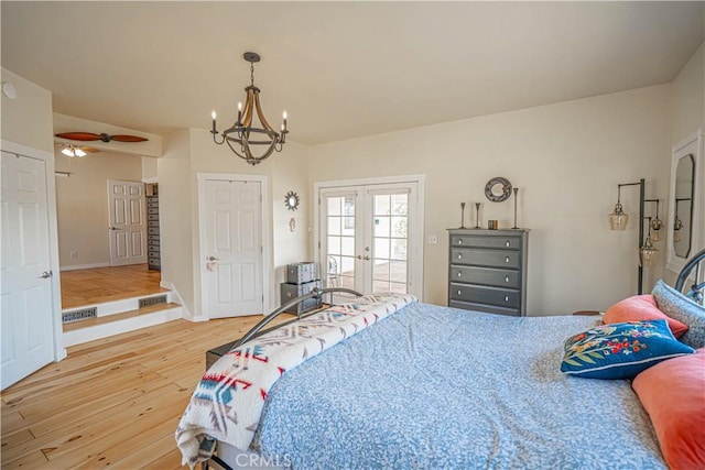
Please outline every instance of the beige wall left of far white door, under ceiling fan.
[{"label": "beige wall left of far white door, under ceiling fan", "polygon": [[[89,153],[68,159],[56,150],[58,256],[62,269],[110,265],[108,239],[108,179],[142,179],[140,157],[119,153]],[[75,258],[70,253],[75,252]]]}]

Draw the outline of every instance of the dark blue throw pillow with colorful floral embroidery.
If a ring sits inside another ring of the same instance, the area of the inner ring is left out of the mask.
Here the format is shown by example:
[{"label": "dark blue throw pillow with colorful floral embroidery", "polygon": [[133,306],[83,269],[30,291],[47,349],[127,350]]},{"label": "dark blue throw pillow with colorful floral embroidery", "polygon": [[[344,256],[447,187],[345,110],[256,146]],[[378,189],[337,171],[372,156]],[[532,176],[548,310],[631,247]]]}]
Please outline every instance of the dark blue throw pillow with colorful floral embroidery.
[{"label": "dark blue throw pillow with colorful floral embroidery", "polygon": [[588,379],[633,379],[665,359],[695,352],[666,320],[600,325],[565,340],[561,371]]}]

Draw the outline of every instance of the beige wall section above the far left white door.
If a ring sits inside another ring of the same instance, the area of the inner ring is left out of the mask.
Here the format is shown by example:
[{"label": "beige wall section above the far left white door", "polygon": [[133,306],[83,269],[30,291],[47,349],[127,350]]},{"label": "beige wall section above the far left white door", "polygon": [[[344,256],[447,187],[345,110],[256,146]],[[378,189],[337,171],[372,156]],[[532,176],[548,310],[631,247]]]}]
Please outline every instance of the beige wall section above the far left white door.
[{"label": "beige wall section above the far left white door", "polygon": [[18,91],[15,99],[2,96],[0,138],[33,149],[54,152],[52,94],[2,68],[2,81]]}]

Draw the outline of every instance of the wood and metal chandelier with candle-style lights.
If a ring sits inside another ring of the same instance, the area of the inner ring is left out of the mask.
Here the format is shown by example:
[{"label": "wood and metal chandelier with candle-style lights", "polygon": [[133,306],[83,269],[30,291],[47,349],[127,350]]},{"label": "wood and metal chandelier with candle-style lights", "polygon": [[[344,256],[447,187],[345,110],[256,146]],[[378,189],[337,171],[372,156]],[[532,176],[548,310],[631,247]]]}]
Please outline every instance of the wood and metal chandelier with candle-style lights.
[{"label": "wood and metal chandelier with candle-style lights", "polygon": [[[274,131],[267,118],[264,118],[260,106],[260,89],[254,86],[254,64],[260,62],[260,55],[253,52],[246,52],[243,57],[250,63],[250,86],[245,88],[247,94],[245,108],[242,108],[241,102],[238,102],[238,120],[221,133],[216,128],[216,111],[213,111],[213,129],[210,133],[216,144],[223,145],[223,143],[227,143],[237,156],[243,159],[250,165],[257,165],[274,151],[281,152],[284,143],[286,143],[286,134],[289,133],[286,129],[286,111],[282,114],[281,132]],[[254,114],[257,114],[257,119],[260,122],[259,128],[254,127],[252,122]],[[219,141],[218,135],[220,135]]]}]

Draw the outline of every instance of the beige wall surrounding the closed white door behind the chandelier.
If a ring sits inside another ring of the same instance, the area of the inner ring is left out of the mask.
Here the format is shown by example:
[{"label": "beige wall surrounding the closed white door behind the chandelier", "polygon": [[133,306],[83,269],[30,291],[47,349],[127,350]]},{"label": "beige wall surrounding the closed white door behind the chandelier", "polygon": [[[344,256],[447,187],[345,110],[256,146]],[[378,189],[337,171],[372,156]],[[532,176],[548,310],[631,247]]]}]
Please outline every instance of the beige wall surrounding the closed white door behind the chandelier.
[{"label": "beige wall surrounding the closed white door behind the chandelier", "polygon": [[270,289],[265,293],[269,307],[279,305],[279,282],[286,263],[304,261],[308,255],[308,212],[305,205],[297,210],[296,230],[289,231],[291,217],[283,205],[284,194],[296,190],[308,197],[308,149],[295,142],[285,145],[257,166],[238,159],[225,145],[213,143],[206,130],[180,131],[165,139],[165,153],[158,161],[162,238],[162,280],[176,287],[184,304],[196,318],[200,308],[200,264],[198,233],[199,173],[261,175],[268,178],[269,226],[263,243],[270,247],[271,259],[264,266],[270,273]]}]

